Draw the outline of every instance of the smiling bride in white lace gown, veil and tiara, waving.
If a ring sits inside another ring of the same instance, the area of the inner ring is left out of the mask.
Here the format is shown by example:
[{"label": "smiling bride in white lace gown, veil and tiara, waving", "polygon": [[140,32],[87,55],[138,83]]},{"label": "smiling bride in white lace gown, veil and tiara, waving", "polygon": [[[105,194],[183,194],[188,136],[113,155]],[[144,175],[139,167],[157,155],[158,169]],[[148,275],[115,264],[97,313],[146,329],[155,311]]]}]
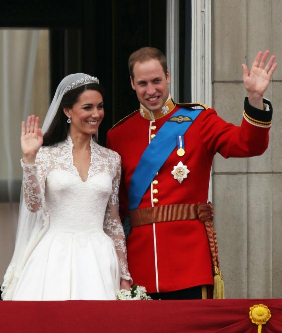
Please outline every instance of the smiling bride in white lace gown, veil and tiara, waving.
[{"label": "smiling bride in white lace gown, veil and tiara, waving", "polygon": [[121,161],[96,143],[103,117],[98,79],[77,73],[59,84],[42,131],[34,115],[22,122],[19,225],[4,300],[114,300],[130,289]]}]

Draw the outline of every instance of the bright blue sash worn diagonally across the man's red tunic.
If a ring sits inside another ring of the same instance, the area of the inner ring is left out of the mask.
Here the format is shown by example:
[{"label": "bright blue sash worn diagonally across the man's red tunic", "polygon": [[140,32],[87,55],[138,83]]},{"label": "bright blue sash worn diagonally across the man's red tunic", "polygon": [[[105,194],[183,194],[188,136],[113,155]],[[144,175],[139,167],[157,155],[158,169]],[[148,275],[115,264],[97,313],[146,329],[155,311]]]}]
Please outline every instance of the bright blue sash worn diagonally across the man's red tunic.
[{"label": "bright blue sash worn diagonally across the man's red tunic", "polygon": [[[129,210],[137,209],[156,173],[177,146],[177,136],[185,134],[202,110],[179,109],[162,125],[142,154],[131,177]],[[183,116],[184,120],[177,121],[178,116]]]}]

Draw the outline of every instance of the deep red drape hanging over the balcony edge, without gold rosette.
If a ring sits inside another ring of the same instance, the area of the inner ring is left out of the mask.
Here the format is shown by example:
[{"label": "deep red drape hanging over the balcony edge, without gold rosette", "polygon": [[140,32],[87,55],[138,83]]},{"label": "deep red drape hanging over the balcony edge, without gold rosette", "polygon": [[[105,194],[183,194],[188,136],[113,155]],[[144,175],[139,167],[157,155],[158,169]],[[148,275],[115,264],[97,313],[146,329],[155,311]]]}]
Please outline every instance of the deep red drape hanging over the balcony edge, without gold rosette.
[{"label": "deep red drape hanging over the balcony edge, without gold rosette", "polygon": [[257,333],[250,307],[266,305],[262,333],[282,333],[282,299],[1,301],[1,333]]}]

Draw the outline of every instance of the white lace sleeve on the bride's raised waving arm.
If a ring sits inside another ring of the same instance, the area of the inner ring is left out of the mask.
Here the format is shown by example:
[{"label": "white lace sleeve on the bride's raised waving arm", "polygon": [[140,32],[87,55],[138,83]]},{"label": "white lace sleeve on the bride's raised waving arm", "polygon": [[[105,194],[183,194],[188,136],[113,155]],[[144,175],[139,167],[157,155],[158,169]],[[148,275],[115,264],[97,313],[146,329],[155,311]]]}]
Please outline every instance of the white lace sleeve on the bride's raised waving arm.
[{"label": "white lace sleeve on the bride's raised waving arm", "polygon": [[42,156],[38,152],[36,164],[27,164],[22,160],[23,168],[23,193],[26,207],[31,212],[37,212],[43,207],[46,169],[43,165]]}]

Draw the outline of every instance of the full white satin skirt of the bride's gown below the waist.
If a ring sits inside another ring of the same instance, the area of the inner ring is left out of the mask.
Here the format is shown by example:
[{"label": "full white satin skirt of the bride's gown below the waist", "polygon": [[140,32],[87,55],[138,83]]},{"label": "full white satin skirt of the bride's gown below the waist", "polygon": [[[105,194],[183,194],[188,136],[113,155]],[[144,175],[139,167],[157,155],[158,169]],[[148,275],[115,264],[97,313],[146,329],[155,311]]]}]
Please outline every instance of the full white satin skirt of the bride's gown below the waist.
[{"label": "full white satin skirt of the bride's gown below the waist", "polygon": [[115,245],[103,231],[49,229],[28,258],[13,300],[115,300],[119,287]]}]

